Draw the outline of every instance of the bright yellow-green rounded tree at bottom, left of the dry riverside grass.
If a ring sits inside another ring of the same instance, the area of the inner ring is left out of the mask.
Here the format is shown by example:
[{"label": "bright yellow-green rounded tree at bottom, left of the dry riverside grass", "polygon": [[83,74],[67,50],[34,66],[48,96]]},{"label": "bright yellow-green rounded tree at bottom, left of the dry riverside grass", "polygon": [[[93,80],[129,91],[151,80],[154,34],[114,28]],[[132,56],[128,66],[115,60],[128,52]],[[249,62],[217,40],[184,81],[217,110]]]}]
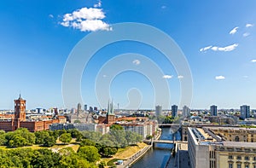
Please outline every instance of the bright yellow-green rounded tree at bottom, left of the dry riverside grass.
[{"label": "bright yellow-green rounded tree at bottom, left of the dry riverside grass", "polygon": [[98,149],[93,146],[80,147],[78,154],[89,162],[95,162],[101,158]]}]

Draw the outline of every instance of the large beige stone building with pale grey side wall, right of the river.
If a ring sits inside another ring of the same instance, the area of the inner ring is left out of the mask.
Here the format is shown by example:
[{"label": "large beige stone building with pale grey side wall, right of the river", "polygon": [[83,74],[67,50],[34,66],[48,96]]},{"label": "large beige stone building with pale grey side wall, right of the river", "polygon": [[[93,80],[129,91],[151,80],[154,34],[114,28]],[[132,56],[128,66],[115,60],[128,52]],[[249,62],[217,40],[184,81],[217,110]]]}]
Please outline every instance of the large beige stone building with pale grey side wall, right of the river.
[{"label": "large beige stone building with pale grey side wall, right of the river", "polygon": [[256,129],[189,127],[188,130],[191,168],[256,167]]}]

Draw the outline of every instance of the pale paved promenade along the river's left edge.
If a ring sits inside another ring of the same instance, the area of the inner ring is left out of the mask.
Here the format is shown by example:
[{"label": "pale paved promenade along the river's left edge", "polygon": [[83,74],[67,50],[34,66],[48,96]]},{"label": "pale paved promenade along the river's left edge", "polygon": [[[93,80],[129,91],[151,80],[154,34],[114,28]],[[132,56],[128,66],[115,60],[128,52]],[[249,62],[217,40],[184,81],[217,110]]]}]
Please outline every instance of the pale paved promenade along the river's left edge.
[{"label": "pale paved promenade along the river's left edge", "polygon": [[[161,131],[158,132],[156,136],[154,136],[154,139],[159,139],[161,135]],[[144,147],[143,149],[139,150],[136,154],[133,154],[129,159],[124,160],[123,165],[117,165],[117,168],[126,168],[126,167],[131,167],[132,164],[137,162],[138,159],[141,159],[144,154],[148,152],[150,148],[153,147],[153,143],[148,145],[147,147]]]}]

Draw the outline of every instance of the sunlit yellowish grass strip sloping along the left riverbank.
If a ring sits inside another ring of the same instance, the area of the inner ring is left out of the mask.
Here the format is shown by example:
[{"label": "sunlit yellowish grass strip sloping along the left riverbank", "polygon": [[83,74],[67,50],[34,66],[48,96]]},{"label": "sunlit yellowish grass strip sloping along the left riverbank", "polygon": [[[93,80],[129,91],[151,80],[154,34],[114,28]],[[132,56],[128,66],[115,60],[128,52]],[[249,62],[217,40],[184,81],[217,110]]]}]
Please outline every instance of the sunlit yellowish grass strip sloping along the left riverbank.
[{"label": "sunlit yellowish grass strip sloping along the left riverbank", "polygon": [[143,149],[144,147],[147,147],[148,145],[143,142],[137,143],[137,145],[134,146],[128,146],[126,148],[119,148],[118,152],[113,155],[112,158],[102,158],[101,161],[104,161],[108,163],[108,161],[112,159],[128,159],[133,154],[137,153],[139,150]]}]

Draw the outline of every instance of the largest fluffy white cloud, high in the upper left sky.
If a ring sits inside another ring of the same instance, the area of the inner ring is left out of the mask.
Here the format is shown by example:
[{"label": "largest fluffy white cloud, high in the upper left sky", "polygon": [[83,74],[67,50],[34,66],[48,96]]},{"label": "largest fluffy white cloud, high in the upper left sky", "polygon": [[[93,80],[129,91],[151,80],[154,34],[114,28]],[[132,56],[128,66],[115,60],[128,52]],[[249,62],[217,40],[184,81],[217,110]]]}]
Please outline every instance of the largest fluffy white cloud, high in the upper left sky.
[{"label": "largest fluffy white cloud, high in the upper left sky", "polygon": [[102,9],[82,8],[73,11],[72,14],[64,14],[61,25],[73,27],[82,32],[95,32],[98,30],[110,31],[112,29],[108,23],[102,21],[105,17]]}]

